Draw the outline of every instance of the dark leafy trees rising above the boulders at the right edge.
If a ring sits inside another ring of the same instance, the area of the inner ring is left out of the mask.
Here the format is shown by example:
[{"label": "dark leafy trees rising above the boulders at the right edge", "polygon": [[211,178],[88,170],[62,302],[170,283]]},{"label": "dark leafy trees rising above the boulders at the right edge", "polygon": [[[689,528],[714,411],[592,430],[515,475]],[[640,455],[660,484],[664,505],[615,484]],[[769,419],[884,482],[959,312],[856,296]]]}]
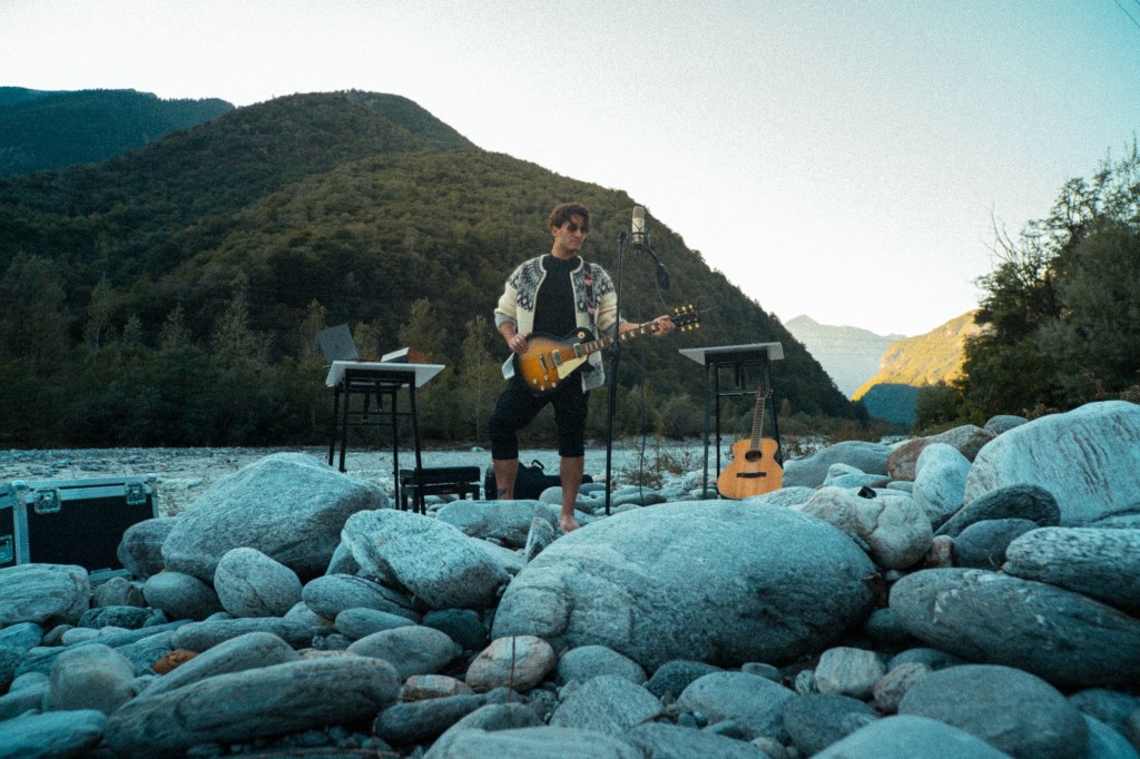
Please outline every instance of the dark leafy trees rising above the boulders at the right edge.
[{"label": "dark leafy trees rising above the boulders at the right edge", "polygon": [[919,426],[1140,402],[1140,150],[1065,182],[1016,238],[997,230],[979,278],[963,376],[920,393]]}]

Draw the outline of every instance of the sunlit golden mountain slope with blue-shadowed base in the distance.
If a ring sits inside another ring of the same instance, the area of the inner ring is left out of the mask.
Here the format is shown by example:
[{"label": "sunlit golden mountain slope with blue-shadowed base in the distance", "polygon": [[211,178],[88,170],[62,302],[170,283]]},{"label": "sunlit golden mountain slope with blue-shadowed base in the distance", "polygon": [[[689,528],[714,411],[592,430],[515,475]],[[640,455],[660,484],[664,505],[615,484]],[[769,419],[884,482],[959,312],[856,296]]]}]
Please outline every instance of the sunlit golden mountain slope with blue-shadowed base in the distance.
[{"label": "sunlit golden mountain slope with blue-shadowed base in the distance", "polygon": [[891,343],[882,354],[878,374],[853,395],[862,400],[868,414],[895,424],[913,424],[918,391],[939,382],[952,383],[962,376],[966,338],[978,334],[969,311],[925,335]]}]

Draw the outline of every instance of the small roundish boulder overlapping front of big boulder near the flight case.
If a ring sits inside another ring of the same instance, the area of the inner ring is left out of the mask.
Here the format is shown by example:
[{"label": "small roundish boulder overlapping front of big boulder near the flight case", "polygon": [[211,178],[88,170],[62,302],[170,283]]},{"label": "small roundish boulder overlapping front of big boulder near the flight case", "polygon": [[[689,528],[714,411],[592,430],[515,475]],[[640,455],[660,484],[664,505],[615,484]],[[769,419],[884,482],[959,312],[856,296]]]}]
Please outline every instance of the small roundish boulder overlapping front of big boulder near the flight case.
[{"label": "small roundish boulder overlapping front of big boulder near the flight case", "polygon": [[218,560],[214,591],[234,617],[284,617],[301,601],[296,572],[256,548],[233,548]]}]

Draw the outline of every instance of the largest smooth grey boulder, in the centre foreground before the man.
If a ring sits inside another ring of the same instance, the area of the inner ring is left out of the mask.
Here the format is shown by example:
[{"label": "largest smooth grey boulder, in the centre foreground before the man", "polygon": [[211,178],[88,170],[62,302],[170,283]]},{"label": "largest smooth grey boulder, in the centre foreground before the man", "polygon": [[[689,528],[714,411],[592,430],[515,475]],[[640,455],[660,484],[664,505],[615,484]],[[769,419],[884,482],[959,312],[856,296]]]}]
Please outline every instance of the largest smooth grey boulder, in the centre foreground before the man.
[{"label": "largest smooth grey boulder, in the centre foreground before the man", "polygon": [[788,661],[866,613],[873,573],[847,536],[806,514],[663,504],[556,540],[507,587],[492,637],[604,645],[650,670],[673,659]]}]

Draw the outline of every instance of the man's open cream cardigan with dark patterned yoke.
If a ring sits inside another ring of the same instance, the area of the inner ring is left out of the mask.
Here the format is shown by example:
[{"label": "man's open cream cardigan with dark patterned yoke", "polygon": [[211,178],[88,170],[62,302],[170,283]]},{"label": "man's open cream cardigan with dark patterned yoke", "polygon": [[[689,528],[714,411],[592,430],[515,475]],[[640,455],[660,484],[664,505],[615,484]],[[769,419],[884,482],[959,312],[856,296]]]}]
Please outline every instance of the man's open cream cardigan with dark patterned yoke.
[{"label": "man's open cream cardigan with dark patterned yoke", "polygon": [[[613,281],[610,279],[610,275],[605,274],[605,270],[596,263],[587,263],[580,258],[578,261],[578,267],[570,272],[577,325],[589,329],[595,337],[601,334],[611,334],[618,321],[618,297],[613,289]],[[593,304],[587,302],[587,270],[594,285]],[[538,288],[542,287],[546,274],[547,271],[543,267],[543,256],[538,256],[523,262],[506,278],[506,287],[499,297],[498,307],[495,309],[496,329],[504,324],[513,324],[514,328],[523,335],[534,330],[535,299],[538,296]],[[591,305],[594,307],[593,313]],[[562,335],[555,335],[555,337],[562,337]],[[508,379],[514,376],[513,358],[513,354],[508,356],[503,364],[503,376]],[[601,387],[605,384],[601,351],[592,353],[586,362],[594,370],[580,373],[581,389],[589,391]]]}]

